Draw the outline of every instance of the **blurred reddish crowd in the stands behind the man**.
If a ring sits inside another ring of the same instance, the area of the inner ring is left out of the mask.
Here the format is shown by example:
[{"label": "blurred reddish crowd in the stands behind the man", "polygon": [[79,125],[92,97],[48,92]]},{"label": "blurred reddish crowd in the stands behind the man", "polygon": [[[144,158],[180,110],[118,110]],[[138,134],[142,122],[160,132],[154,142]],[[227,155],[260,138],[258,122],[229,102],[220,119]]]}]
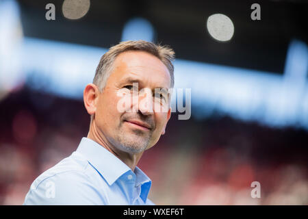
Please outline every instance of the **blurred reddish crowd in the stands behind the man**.
[{"label": "blurred reddish crowd in the stands behind the man", "polygon": [[[138,165],[157,205],[308,205],[308,132],[220,115],[172,116]],[[21,205],[29,187],[87,136],[81,100],[20,88],[0,99],[0,204]],[[260,183],[252,198],[251,183]]]}]

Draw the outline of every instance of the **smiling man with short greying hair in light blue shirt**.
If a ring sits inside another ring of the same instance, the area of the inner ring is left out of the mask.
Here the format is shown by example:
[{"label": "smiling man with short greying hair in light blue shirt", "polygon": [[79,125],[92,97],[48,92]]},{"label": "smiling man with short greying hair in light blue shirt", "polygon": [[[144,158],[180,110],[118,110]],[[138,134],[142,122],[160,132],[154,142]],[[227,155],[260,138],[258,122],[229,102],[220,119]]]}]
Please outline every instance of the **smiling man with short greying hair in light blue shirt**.
[{"label": "smiling man with short greying hair in light blue shirt", "polygon": [[24,205],[153,205],[137,164],[165,133],[173,59],[172,49],[143,40],[111,47],[84,89],[87,138],[32,183]]}]

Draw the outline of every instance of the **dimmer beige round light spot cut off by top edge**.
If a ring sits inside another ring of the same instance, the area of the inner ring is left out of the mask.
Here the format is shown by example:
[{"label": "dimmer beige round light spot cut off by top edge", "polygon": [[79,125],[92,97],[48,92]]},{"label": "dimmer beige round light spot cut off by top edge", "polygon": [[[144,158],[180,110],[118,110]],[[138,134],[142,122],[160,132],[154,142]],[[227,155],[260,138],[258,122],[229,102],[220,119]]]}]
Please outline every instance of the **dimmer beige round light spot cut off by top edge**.
[{"label": "dimmer beige round light spot cut off by top edge", "polygon": [[90,0],[65,0],[62,5],[63,15],[71,20],[85,16],[90,8]]}]

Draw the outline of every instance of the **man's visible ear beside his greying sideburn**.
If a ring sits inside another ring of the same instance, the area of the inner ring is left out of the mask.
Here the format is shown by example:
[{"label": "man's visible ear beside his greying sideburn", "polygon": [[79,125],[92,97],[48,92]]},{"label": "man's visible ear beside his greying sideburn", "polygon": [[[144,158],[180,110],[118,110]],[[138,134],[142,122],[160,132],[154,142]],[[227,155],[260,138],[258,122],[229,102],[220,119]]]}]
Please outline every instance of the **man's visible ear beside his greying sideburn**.
[{"label": "man's visible ear beside his greying sideburn", "polygon": [[88,114],[94,115],[97,112],[97,100],[99,99],[99,88],[93,83],[89,83],[84,88],[84,106]]}]

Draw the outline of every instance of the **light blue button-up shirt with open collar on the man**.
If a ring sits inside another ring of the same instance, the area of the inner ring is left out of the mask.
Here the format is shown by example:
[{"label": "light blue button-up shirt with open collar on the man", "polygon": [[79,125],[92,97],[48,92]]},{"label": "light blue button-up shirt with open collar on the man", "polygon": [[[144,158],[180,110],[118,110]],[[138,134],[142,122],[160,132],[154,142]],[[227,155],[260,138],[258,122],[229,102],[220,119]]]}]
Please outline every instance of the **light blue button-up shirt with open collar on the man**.
[{"label": "light blue button-up shirt with open collar on the man", "polygon": [[154,205],[151,179],[89,138],[31,184],[23,205]]}]

